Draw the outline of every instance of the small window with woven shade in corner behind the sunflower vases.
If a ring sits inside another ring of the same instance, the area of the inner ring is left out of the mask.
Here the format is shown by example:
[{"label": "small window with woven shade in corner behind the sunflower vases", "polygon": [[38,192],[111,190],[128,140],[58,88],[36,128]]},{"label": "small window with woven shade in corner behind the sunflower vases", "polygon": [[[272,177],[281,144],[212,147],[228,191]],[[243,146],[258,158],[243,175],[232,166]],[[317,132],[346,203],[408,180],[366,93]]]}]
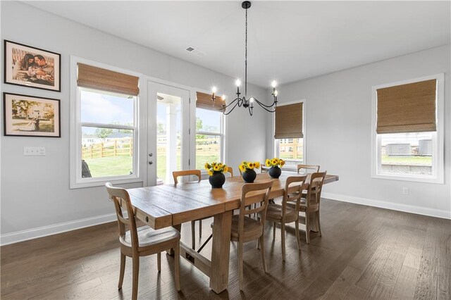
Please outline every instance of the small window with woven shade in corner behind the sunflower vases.
[{"label": "small window with woven shade in corner behind the sunflower vases", "polygon": [[304,158],[304,101],[282,104],[274,115],[274,153],[285,161],[284,168],[296,168]]}]

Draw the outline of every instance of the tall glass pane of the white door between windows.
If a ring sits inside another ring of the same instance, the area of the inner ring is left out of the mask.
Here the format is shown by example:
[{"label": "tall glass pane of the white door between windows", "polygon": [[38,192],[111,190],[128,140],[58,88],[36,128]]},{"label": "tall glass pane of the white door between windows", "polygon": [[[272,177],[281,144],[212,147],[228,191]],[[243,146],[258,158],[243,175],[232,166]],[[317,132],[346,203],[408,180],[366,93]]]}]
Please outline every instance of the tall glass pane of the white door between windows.
[{"label": "tall glass pane of the white door between windows", "polygon": [[156,184],[173,183],[172,172],[181,170],[182,99],[157,93],[156,104]]}]

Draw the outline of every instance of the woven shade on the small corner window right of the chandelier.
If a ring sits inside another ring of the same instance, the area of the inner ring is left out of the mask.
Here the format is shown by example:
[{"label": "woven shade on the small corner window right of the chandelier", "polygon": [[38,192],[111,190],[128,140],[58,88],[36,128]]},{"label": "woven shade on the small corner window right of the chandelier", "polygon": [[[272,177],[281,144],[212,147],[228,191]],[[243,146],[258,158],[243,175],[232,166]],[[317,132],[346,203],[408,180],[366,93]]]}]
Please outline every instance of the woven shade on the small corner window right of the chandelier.
[{"label": "woven shade on the small corner window right of the chandelier", "polygon": [[302,103],[277,106],[276,139],[299,139],[302,134]]}]

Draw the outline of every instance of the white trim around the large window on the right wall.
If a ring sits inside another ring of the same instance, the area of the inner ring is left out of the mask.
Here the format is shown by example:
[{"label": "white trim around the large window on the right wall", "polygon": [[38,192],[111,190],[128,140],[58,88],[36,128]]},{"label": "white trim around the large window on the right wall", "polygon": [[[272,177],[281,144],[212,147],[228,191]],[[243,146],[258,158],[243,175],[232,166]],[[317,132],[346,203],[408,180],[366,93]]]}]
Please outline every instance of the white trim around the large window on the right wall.
[{"label": "white trim around the large window on the right wall", "polygon": [[[425,175],[391,175],[380,173],[381,168],[381,135],[376,133],[377,122],[377,89],[384,87],[393,87],[395,85],[406,85],[413,82],[420,82],[424,80],[437,80],[437,102],[436,102],[436,118],[437,131],[433,134],[433,156],[432,168],[435,173],[431,176]],[[411,182],[425,182],[435,184],[445,184],[444,176],[444,126],[445,126],[445,107],[444,107],[444,93],[445,93],[445,75],[439,73],[424,77],[417,77],[409,80],[402,80],[398,82],[390,82],[383,85],[376,85],[371,90],[371,177],[385,180],[402,180]],[[434,138],[435,135],[435,138]]]}]

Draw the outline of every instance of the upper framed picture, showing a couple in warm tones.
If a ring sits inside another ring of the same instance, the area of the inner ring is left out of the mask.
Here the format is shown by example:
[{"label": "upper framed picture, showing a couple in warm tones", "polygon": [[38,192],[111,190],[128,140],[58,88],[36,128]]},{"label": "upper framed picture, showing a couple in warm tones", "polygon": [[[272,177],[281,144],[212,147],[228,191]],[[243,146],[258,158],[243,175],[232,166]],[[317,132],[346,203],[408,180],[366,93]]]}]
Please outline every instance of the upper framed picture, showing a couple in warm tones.
[{"label": "upper framed picture, showing a couple in warm tones", "polygon": [[4,82],[61,92],[61,55],[5,40]]}]

